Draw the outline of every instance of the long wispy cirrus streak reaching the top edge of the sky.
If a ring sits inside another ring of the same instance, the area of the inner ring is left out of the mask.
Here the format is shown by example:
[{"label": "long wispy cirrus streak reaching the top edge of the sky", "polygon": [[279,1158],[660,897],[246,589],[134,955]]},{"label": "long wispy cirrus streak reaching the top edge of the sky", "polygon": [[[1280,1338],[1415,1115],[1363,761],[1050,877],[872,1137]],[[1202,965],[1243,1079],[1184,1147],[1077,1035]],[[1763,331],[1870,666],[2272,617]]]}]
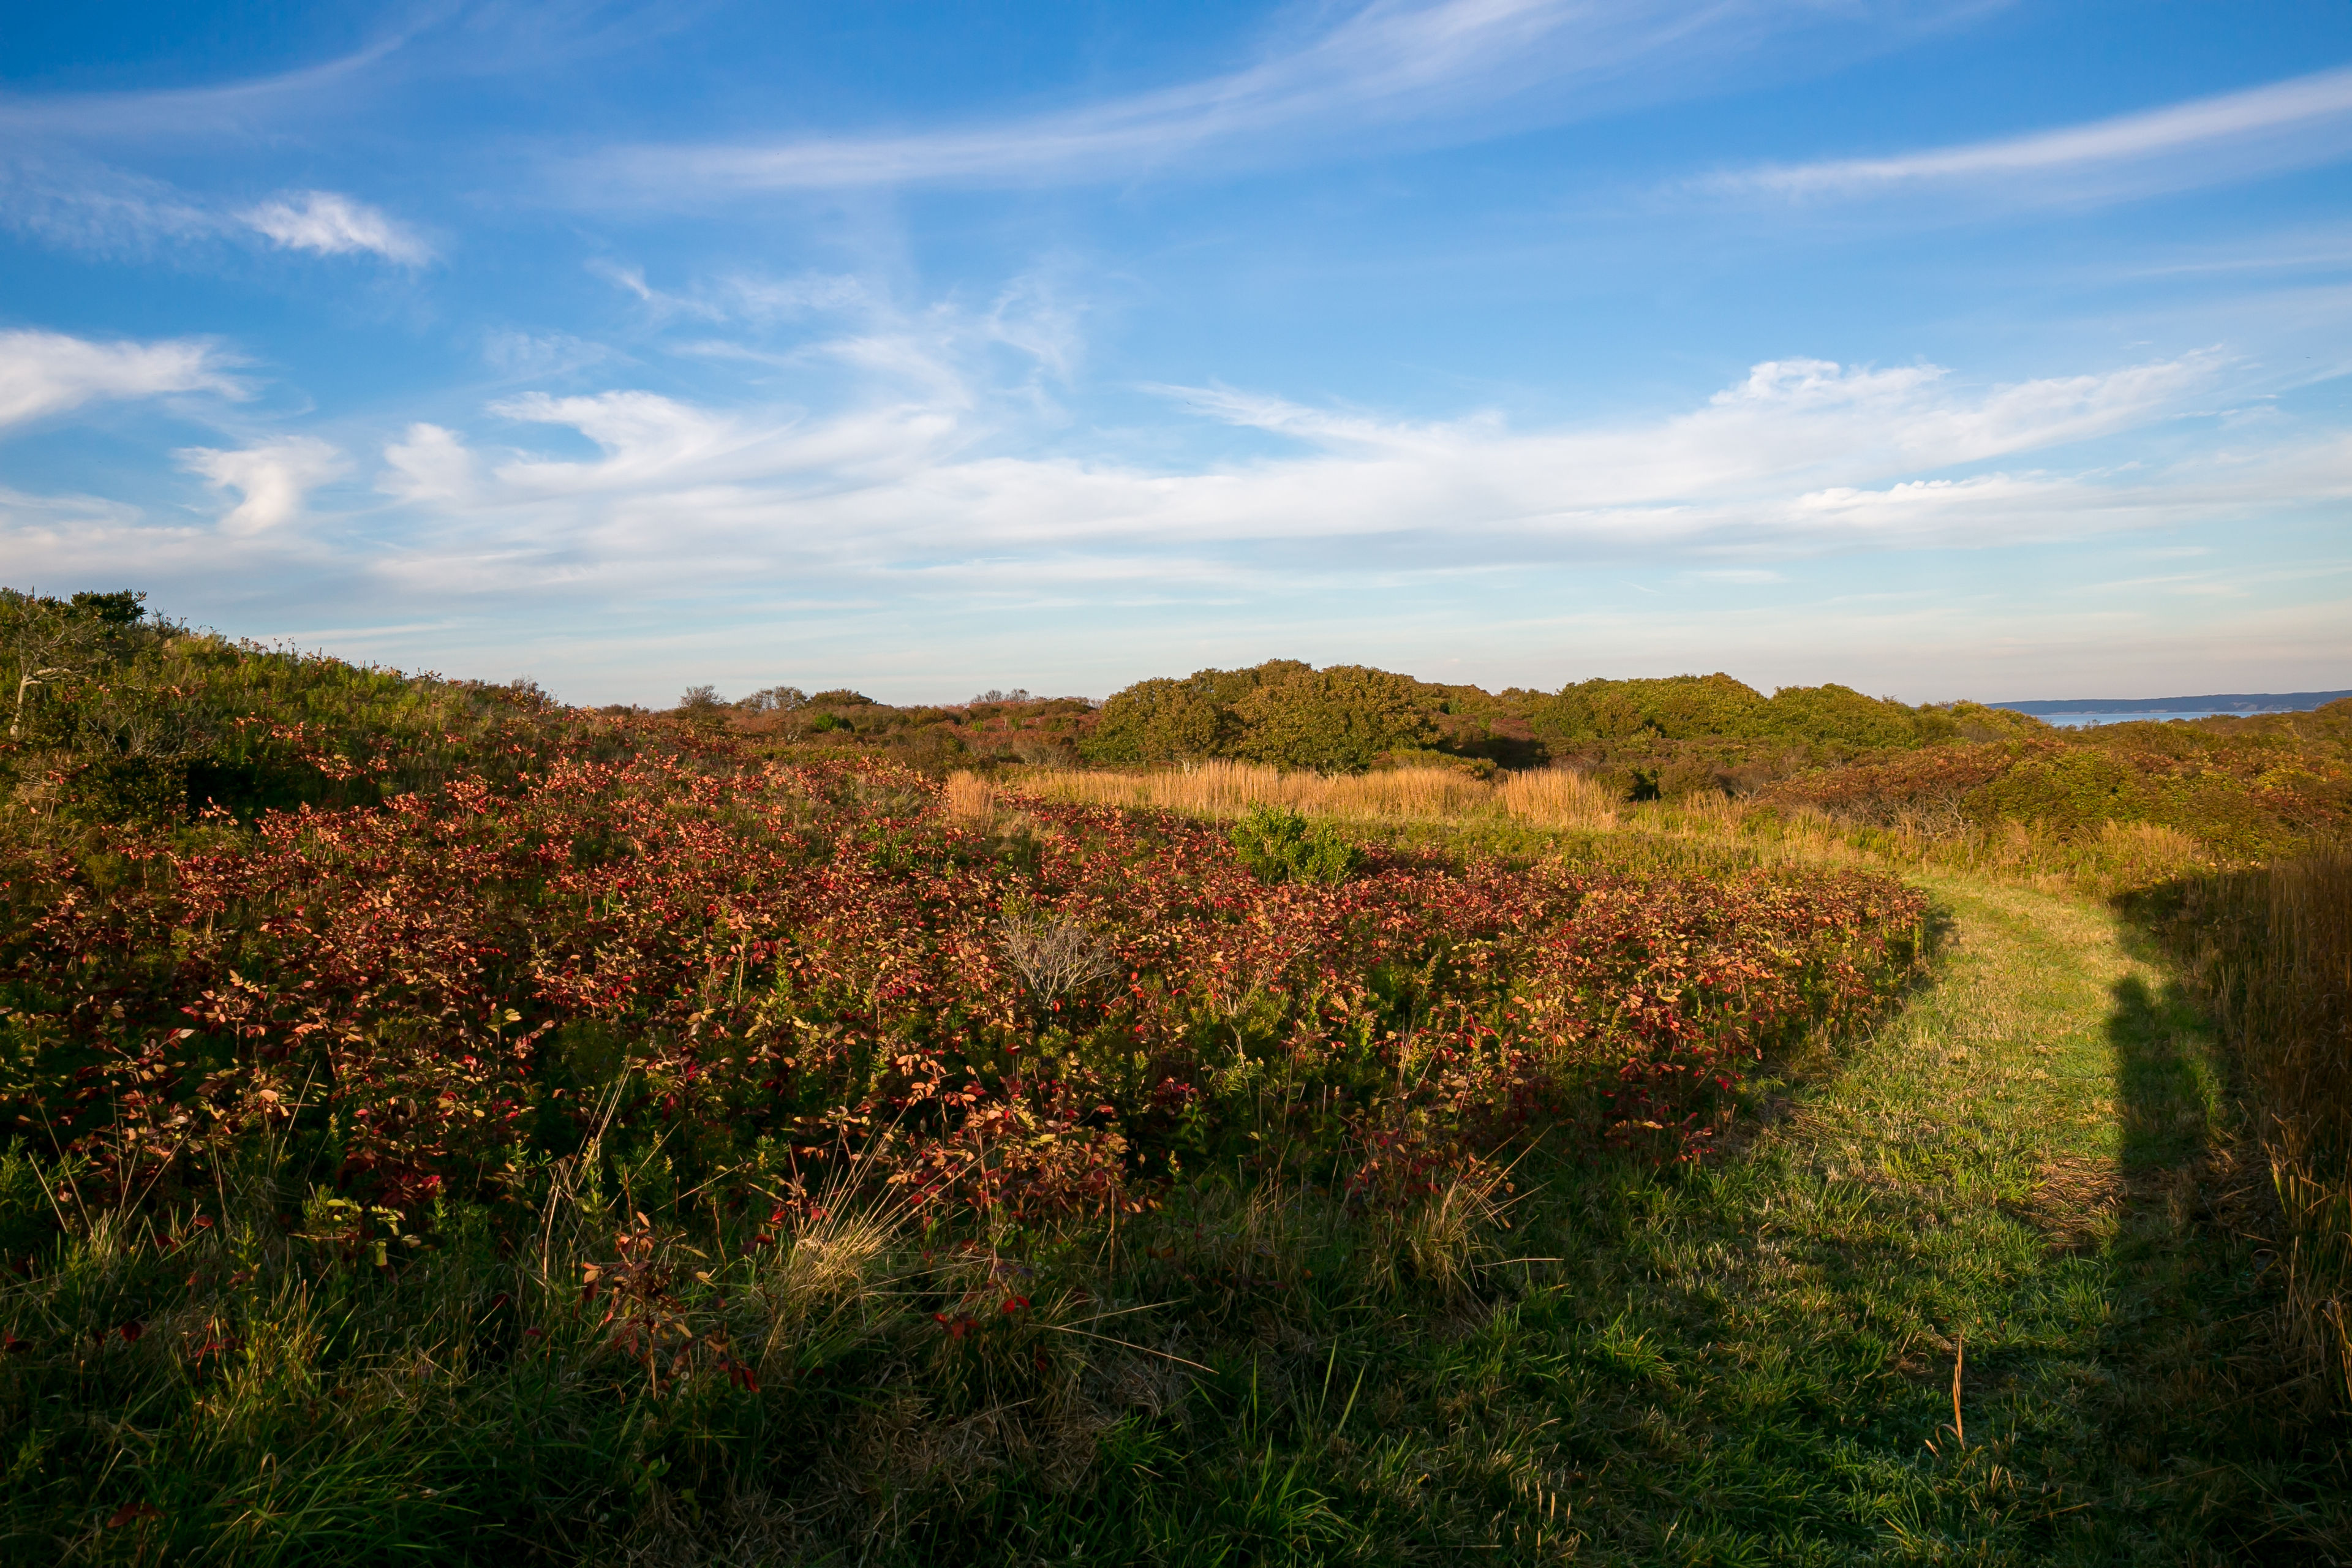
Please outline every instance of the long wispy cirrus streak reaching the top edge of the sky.
[{"label": "long wispy cirrus streak reaching the top edge of the sky", "polygon": [[[1969,0],[1374,0],[1256,61],[1082,108],[931,132],[626,146],[574,169],[574,195],[694,202],[746,190],[1103,181],[1202,153],[1296,160],[1416,127],[1463,139],[1557,125],[1755,75],[1769,45],[1851,52],[1973,9]],[[1830,42],[1837,38],[1839,42]],[[1858,40],[1867,40],[1860,42]]]}]

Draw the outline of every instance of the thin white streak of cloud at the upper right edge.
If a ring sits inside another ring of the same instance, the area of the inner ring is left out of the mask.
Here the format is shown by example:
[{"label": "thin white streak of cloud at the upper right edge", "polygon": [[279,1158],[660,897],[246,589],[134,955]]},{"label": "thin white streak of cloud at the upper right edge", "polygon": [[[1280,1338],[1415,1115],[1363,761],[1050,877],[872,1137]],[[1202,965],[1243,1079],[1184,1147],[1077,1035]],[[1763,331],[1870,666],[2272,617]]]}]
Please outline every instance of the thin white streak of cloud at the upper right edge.
[{"label": "thin white streak of cloud at the upper right edge", "polygon": [[2027,136],[1719,174],[1722,193],[1858,197],[1983,186],[2004,200],[2131,195],[2352,153],[2352,68]]}]

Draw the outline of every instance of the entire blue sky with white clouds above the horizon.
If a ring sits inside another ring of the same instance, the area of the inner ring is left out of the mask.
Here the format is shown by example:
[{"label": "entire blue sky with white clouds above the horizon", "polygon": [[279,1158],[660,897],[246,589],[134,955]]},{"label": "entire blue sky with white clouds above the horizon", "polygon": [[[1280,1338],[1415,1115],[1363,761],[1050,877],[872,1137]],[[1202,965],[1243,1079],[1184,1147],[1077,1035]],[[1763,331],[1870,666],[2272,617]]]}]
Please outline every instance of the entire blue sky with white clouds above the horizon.
[{"label": "entire blue sky with white clouds above the horizon", "polygon": [[2352,686],[2352,7],[0,0],[0,581],[572,701]]}]

